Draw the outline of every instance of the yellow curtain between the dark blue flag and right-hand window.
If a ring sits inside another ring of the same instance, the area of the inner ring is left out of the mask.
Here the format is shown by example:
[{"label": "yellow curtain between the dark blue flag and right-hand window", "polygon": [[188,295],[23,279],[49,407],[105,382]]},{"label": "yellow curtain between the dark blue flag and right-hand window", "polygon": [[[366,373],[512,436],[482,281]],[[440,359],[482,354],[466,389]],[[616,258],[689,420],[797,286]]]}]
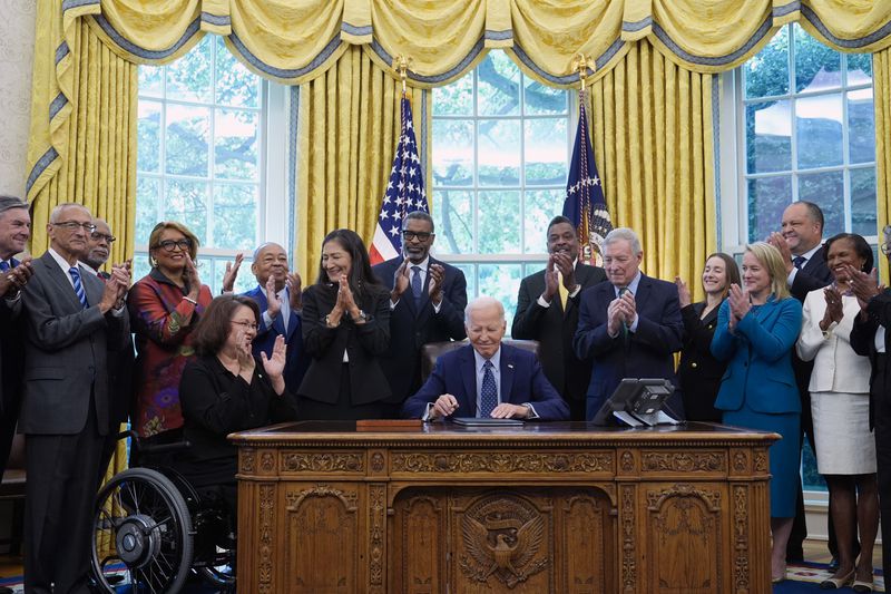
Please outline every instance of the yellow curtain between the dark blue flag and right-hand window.
[{"label": "yellow curtain between the dark blue flag and right-hand window", "polygon": [[639,234],[643,269],[659,279],[695,279],[716,245],[712,79],[644,40],[590,89],[613,225]]}]

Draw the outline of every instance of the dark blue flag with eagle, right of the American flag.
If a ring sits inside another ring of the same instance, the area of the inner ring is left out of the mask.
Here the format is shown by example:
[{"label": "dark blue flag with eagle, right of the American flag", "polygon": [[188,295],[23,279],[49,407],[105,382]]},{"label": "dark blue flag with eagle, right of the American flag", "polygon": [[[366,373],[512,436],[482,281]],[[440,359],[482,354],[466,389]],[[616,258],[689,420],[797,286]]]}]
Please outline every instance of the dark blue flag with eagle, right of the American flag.
[{"label": "dark blue flag with eagle, right of the American flag", "polygon": [[569,218],[578,232],[581,246],[579,259],[585,264],[603,263],[603,244],[606,234],[613,231],[613,221],[604,198],[604,187],[594,164],[594,150],[588,137],[588,116],[585,113],[585,91],[578,94],[578,128],[566,184],[564,216]]}]

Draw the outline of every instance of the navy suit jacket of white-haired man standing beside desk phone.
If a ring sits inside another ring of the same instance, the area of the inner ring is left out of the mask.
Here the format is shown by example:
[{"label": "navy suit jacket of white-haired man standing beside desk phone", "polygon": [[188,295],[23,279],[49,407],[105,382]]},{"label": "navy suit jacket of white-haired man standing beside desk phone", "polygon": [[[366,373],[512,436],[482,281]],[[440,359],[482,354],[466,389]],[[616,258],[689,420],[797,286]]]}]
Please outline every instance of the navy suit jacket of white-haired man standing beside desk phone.
[{"label": "navy suit jacket of white-haired man standing beside desk phone", "polygon": [[[611,283],[600,283],[581,294],[578,330],[572,341],[579,359],[593,361],[588,384],[588,419],[600,409],[624,378],[664,378],[677,387],[673,353],[681,350],[684,322],[674,283],[640,275],[637,293],[638,324],[616,338],[607,333],[607,308],[616,299]],[[684,405],[679,392],[669,399],[668,407],[683,418]]]}]

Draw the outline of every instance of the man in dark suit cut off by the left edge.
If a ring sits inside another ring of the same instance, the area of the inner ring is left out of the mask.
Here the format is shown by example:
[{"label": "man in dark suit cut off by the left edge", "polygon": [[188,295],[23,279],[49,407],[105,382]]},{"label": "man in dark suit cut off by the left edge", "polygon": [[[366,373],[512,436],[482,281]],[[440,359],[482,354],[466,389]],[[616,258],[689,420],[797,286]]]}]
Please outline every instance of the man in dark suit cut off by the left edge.
[{"label": "man in dark suit cut off by the left edge", "polygon": [[0,477],[19,420],[25,363],[20,290],[33,271],[30,256],[21,261],[13,256],[25,250],[30,236],[28,205],[13,196],[0,196]]}]

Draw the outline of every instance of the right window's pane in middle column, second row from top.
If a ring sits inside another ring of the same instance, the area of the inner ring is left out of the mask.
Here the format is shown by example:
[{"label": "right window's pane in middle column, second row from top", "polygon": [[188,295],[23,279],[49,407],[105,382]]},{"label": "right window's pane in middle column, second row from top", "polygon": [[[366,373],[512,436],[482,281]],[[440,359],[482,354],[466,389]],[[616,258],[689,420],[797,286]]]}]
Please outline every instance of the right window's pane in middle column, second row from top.
[{"label": "right window's pane in middle column, second row from top", "polygon": [[842,164],[842,96],[820,95],[795,101],[799,167]]}]

